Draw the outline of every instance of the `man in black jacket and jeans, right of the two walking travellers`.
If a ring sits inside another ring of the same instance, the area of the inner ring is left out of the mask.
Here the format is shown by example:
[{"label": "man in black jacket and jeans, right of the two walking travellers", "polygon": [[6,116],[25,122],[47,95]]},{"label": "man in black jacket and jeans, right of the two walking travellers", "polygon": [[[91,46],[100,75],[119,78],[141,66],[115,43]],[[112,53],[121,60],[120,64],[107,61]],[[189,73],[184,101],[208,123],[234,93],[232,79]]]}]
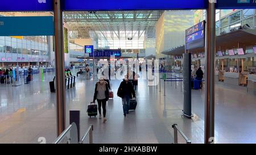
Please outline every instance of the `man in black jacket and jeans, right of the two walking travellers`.
[{"label": "man in black jacket and jeans, right of the two walking travellers", "polygon": [[130,100],[132,97],[136,97],[135,91],[133,89],[133,84],[129,81],[128,76],[125,76],[125,79],[121,82],[118,91],[118,97],[122,98],[123,102],[123,116],[126,117],[129,114],[130,109]]}]

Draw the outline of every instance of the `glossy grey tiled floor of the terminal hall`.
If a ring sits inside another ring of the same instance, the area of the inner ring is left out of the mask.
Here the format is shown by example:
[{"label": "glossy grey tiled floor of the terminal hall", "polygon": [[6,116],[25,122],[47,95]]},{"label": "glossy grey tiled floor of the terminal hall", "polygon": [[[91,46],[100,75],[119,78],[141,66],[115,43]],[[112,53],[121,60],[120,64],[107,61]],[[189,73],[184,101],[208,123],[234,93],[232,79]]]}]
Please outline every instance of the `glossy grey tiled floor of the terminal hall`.
[{"label": "glossy grey tiled floor of the terminal hall", "polygon": [[[28,85],[11,87],[0,85],[0,143],[47,143],[56,139],[55,93],[49,92],[48,81],[35,81]],[[166,83],[166,96],[159,87],[147,86],[139,81],[135,112],[123,118],[121,99],[116,96],[120,81],[110,81],[114,99],[107,104],[107,119],[88,118],[87,104],[93,99],[96,81],[77,79],[76,87],[66,91],[67,125],[69,110],[81,112],[81,135],[89,124],[94,125],[94,143],[173,143],[171,125],[177,123],[192,143],[204,141],[204,90],[192,90],[191,120],[181,116],[183,92],[180,83]],[[217,143],[256,143],[256,97],[242,87],[229,87],[216,83]],[[184,143],[179,137],[180,143]]]}]

